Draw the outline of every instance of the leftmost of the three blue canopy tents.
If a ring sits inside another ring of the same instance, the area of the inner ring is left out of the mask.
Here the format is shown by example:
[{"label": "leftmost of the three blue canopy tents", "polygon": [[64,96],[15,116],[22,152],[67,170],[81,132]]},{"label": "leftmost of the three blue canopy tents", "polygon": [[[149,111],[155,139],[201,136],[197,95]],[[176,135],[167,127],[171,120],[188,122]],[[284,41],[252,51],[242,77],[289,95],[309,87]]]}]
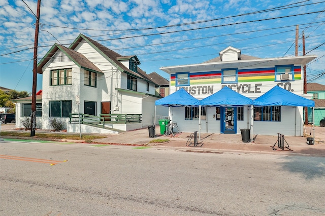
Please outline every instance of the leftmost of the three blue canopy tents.
[{"label": "leftmost of the three blue canopy tents", "polygon": [[[154,122],[156,121],[156,106],[167,106],[167,107],[181,107],[181,106],[200,106],[200,100],[191,96],[185,89],[180,89],[173,94],[166,96],[165,98],[161,98],[155,101],[154,107]],[[156,137],[156,133],[154,135]]]}]

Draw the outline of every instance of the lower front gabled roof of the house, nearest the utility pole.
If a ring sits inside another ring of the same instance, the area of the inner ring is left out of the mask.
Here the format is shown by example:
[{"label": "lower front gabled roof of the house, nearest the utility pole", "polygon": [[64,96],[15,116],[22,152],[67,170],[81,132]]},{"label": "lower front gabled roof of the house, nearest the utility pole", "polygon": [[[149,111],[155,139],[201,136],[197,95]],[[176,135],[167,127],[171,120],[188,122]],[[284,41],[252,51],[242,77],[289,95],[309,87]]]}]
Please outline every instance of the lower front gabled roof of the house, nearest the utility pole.
[{"label": "lower front gabled roof of the house, nearest the utility pole", "polygon": [[97,66],[95,66],[93,63],[91,63],[84,55],[81,53],[78,53],[74,50],[71,50],[69,48],[63,47],[59,44],[54,44],[53,47],[47,52],[47,54],[43,57],[43,59],[38,63],[37,66],[37,72],[42,74],[42,67],[51,59],[51,57],[58,51],[62,51],[64,54],[66,54],[76,65],[78,65],[80,68],[84,68],[86,70],[90,70],[93,72],[101,72]]}]

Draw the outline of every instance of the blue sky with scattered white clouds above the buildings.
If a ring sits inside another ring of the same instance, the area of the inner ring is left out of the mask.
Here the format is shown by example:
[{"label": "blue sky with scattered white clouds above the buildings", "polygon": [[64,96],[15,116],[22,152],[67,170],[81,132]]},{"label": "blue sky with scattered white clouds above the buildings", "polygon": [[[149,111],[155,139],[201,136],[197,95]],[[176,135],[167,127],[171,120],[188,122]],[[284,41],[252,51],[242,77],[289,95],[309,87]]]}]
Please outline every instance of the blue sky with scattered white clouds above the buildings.
[{"label": "blue sky with scattered white clouds above the buildings", "polygon": [[[32,92],[37,0],[0,0],[0,86]],[[322,0],[42,0],[38,61],[55,44],[82,33],[139,67],[169,79],[160,67],[197,64],[232,46],[258,58],[317,58],[307,83],[325,85],[325,1]],[[37,77],[37,91],[42,75]]]}]

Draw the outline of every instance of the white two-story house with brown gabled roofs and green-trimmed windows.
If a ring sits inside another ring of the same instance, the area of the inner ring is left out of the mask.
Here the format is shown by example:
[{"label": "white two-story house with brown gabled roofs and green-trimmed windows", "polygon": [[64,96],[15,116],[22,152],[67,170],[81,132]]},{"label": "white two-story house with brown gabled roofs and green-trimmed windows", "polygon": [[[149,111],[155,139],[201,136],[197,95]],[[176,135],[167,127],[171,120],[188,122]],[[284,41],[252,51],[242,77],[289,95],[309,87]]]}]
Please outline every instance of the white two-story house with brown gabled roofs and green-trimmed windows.
[{"label": "white two-story house with brown gabled roofs and green-trimmed windows", "polygon": [[[43,74],[42,112],[37,116],[37,126],[50,129],[49,119],[60,118],[68,132],[78,132],[79,125],[69,123],[71,113],[78,113],[78,106],[80,113],[92,116],[134,114],[138,118],[137,122],[121,124],[116,116],[108,116],[107,121],[116,121],[106,124],[110,128],[128,131],[152,125],[154,102],[161,97],[155,96],[156,83],[138,65],[137,56],[121,56],[83,34],[69,48],[55,44],[37,68]],[[17,101],[20,119],[29,116],[25,110],[29,104]],[[86,125],[82,130],[100,133]]]}]

